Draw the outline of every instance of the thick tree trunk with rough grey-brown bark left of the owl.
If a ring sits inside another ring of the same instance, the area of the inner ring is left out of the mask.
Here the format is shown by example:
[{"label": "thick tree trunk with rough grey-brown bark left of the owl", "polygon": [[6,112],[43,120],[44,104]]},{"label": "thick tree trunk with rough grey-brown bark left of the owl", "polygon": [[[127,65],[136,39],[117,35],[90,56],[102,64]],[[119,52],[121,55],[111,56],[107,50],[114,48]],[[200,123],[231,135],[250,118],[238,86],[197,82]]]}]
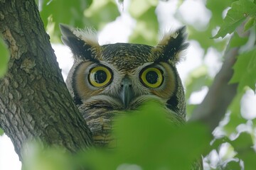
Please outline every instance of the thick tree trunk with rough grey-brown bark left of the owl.
[{"label": "thick tree trunk with rough grey-brown bark left of the owl", "polygon": [[0,35],[11,57],[0,79],[0,124],[22,159],[27,140],[76,152],[92,143],[68,93],[34,0],[0,0]]}]

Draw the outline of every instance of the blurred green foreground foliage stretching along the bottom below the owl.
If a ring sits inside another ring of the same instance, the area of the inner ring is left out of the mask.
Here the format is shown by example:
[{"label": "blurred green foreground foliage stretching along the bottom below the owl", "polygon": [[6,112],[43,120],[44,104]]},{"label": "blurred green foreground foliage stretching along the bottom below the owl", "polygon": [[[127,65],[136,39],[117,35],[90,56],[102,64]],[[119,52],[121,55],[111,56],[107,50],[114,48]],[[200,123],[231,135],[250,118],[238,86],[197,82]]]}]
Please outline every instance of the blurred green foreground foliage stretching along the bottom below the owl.
[{"label": "blurred green foreground foliage stretching along the bottom below the owl", "polygon": [[[255,167],[256,154],[252,137],[243,132],[236,140],[228,138],[210,143],[211,136],[205,125],[188,123],[182,127],[166,119],[164,108],[150,102],[139,111],[121,115],[114,123],[117,147],[91,148],[79,154],[68,154],[63,149],[44,148],[30,143],[26,147],[23,170],[32,169],[189,169],[201,153],[229,142],[242,159],[246,169]],[[65,153],[65,154],[64,154]],[[240,169],[238,159],[225,164],[225,169]]]}]

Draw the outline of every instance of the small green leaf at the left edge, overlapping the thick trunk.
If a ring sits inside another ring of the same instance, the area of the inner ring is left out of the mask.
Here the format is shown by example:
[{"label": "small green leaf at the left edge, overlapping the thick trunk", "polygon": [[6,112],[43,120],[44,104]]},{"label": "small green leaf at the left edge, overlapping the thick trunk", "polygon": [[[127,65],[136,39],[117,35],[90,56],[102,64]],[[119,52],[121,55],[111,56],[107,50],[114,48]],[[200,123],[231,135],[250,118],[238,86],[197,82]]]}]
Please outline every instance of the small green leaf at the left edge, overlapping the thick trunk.
[{"label": "small green leaf at the left edge, overlapping the thick trunk", "polygon": [[9,50],[7,50],[4,41],[0,38],[0,78],[4,77],[4,74],[6,74],[8,61]]}]

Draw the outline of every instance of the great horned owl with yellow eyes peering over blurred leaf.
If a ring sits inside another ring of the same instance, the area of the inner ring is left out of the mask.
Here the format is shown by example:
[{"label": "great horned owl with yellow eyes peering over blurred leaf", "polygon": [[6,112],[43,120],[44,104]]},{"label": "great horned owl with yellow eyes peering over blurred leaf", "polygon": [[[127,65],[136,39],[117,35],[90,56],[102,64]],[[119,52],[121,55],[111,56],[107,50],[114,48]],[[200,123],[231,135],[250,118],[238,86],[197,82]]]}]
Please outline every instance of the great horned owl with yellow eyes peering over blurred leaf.
[{"label": "great horned owl with yellow eyes peering over blurred leaf", "polygon": [[176,63],[188,47],[185,27],[164,35],[155,47],[116,43],[99,45],[90,30],[60,25],[62,40],[74,55],[66,84],[89,126],[95,145],[105,146],[115,115],[154,99],[186,120],[186,102]]}]

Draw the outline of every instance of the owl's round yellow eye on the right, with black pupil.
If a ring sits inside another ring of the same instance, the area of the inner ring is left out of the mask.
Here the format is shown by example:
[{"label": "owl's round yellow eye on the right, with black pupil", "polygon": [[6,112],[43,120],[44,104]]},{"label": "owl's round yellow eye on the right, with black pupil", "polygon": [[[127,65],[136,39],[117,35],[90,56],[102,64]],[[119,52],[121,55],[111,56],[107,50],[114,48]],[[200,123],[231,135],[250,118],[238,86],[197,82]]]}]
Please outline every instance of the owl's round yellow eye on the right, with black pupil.
[{"label": "owl's round yellow eye on the right, with black pupil", "polygon": [[163,74],[157,68],[147,68],[141,74],[143,84],[151,88],[157,88],[164,80]]}]

